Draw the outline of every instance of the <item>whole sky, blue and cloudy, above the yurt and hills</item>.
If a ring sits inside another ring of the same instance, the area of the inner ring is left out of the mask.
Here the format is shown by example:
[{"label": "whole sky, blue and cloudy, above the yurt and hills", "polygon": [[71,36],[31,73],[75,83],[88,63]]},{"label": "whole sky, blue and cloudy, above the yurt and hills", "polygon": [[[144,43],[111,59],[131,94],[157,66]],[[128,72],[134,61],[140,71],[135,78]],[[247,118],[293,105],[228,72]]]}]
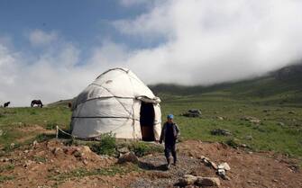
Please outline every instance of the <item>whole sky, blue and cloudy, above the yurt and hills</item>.
[{"label": "whole sky, blue and cloudy, above the yurt and hills", "polygon": [[128,67],[146,84],[212,85],[302,56],[299,0],[0,0],[0,103],[73,98]]}]

